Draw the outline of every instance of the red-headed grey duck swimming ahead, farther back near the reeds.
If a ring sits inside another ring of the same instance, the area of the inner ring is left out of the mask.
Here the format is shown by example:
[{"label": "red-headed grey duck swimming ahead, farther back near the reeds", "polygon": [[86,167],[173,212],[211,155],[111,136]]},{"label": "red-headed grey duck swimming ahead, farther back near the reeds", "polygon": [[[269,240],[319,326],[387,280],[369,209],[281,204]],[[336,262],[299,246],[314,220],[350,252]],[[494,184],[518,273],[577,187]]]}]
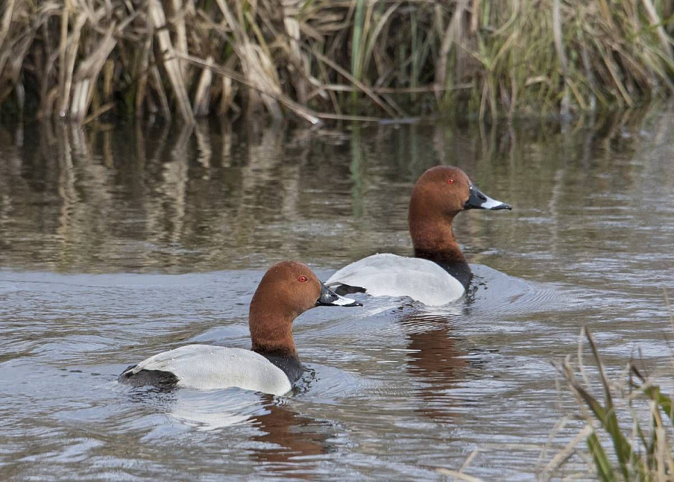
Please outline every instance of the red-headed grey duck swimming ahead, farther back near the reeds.
[{"label": "red-headed grey duck swimming ahead, farther back near the reeds", "polygon": [[452,221],[468,209],[511,210],[512,206],[488,197],[459,167],[427,169],[409,200],[413,258],[373,254],[338,269],[326,285],[340,295],[406,296],[429,306],[456,301],[466,293],[472,271],[454,238]]}]

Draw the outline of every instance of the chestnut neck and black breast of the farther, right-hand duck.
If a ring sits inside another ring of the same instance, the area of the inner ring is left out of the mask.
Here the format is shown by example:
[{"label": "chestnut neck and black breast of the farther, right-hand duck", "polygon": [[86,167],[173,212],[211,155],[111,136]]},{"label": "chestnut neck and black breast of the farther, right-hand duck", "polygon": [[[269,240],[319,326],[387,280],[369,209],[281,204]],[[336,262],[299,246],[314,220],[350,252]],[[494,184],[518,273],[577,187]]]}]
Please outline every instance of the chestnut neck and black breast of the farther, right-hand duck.
[{"label": "chestnut neck and black breast of the farther, right-hand duck", "polygon": [[437,263],[467,287],[472,273],[459,243],[454,238],[453,220],[454,215],[448,217],[410,210],[409,232],[414,245],[414,256]]}]

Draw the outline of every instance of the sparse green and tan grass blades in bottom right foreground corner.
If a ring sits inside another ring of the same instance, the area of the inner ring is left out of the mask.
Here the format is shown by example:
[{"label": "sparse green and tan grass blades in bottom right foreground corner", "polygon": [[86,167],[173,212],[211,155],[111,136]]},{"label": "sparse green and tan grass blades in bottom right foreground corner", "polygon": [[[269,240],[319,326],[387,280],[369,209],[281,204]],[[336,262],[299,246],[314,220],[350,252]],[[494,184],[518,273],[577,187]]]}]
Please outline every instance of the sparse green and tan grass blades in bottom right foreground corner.
[{"label": "sparse green and tan grass blades in bottom right foreground corner", "polygon": [[[595,379],[584,367],[583,338],[590,347]],[[581,331],[575,363],[567,356],[558,369],[577,401],[585,426],[550,460],[540,479],[550,479],[574,454],[585,456],[593,476],[601,481],[674,479],[674,407],[659,385],[633,362],[620,377],[609,378],[587,329]],[[593,388],[603,392],[603,402],[592,394]]]}]

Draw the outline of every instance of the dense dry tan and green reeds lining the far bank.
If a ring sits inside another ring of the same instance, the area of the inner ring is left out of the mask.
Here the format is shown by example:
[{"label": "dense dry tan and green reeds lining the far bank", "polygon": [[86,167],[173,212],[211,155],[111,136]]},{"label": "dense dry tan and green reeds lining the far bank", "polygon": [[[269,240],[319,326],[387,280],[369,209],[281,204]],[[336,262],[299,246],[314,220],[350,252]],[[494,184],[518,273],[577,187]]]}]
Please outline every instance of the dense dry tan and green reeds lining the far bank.
[{"label": "dense dry tan and green reeds lining the far bank", "polygon": [[674,89],[674,0],[4,0],[3,115],[572,114]]}]

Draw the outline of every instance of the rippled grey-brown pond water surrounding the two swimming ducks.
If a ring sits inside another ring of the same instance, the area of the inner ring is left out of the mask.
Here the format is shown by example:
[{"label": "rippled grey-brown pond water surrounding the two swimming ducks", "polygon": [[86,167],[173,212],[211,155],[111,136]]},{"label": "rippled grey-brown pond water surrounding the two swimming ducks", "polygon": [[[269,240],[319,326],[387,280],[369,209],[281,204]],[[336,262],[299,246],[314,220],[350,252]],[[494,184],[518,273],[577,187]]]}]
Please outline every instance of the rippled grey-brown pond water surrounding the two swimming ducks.
[{"label": "rippled grey-brown pond water surrounding the two swimming ducks", "polygon": [[[535,479],[582,427],[552,361],[593,330],[611,372],[671,376],[674,114],[315,131],[0,128],[2,479]],[[409,254],[409,191],[459,165],[512,212],[455,231],[467,300],[363,299],[295,323],[290,397],[155,393],[126,365],[249,347],[265,269]],[[550,447],[544,451],[545,445]],[[564,469],[586,473],[581,458]]]}]

